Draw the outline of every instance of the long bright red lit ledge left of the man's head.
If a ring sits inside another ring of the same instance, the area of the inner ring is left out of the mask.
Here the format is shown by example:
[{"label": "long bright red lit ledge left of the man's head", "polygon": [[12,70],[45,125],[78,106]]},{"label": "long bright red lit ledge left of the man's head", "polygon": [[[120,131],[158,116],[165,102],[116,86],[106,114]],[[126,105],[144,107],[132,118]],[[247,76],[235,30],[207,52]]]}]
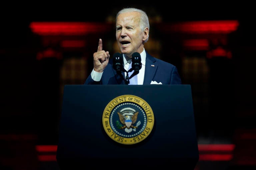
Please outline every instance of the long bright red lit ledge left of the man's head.
[{"label": "long bright red lit ledge left of the man's head", "polygon": [[81,36],[91,33],[108,32],[111,30],[112,25],[108,23],[86,22],[31,22],[29,27],[33,33],[41,36]]}]

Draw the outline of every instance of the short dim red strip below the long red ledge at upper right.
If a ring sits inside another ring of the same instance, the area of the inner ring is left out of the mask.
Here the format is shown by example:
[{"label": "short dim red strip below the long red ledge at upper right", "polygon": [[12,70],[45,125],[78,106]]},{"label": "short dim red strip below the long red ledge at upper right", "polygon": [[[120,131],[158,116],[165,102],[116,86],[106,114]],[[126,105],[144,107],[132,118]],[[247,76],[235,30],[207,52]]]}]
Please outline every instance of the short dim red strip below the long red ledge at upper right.
[{"label": "short dim red strip below the long red ledge at upper right", "polygon": [[184,40],[183,46],[186,49],[193,49],[193,50],[208,50],[209,49],[209,42],[207,39],[191,39],[191,40]]}]

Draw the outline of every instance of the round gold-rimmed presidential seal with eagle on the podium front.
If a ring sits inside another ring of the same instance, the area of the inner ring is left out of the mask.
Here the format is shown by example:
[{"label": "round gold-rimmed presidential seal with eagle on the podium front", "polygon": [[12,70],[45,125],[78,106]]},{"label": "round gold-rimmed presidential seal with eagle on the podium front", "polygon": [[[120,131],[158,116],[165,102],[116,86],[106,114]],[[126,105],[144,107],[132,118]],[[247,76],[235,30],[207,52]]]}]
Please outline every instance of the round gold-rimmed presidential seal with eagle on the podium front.
[{"label": "round gold-rimmed presidential seal with eagle on the podium front", "polygon": [[105,107],[102,124],[111,139],[130,145],[148,137],[154,126],[154,114],[142,98],[123,95],[116,97]]}]

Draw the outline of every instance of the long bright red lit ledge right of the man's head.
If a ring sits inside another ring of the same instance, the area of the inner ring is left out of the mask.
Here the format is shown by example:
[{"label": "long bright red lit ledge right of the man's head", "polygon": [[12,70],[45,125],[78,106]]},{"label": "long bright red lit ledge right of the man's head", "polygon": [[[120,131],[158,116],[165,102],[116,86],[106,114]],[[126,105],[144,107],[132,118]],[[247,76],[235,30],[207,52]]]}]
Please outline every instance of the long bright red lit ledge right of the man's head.
[{"label": "long bright red lit ledge right of the man's head", "polygon": [[181,32],[189,34],[228,34],[237,30],[239,22],[237,20],[223,21],[190,21],[177,24],[160,26],[166,32]]}]

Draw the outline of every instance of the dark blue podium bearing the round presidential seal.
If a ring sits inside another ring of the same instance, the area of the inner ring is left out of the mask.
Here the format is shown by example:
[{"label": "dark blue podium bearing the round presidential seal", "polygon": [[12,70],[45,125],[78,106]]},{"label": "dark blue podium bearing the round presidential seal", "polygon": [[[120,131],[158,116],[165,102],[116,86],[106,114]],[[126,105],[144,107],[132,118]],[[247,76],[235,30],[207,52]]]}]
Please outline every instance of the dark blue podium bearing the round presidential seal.
[{"label": "dark blue podium bearing the round presidential seal", "polygon": [[198,145],[190,85],[65,85],[60,169],[191,169]]}]

